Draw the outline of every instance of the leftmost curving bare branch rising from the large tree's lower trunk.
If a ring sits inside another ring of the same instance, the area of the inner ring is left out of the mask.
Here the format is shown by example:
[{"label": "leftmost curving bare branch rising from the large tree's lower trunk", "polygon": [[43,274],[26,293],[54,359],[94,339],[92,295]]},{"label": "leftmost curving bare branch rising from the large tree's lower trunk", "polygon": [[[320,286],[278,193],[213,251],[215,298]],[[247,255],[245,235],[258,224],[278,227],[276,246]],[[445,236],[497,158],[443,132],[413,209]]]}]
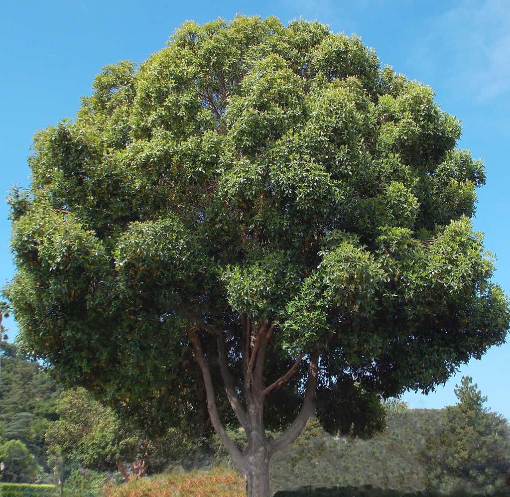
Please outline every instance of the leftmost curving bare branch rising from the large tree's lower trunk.
[{"label": "leftmost curving bare branch rising from the large tree's lower trunk", "polygon": [[246,461],[241,454],[241,451],[236,446],[236,444],[233,442],[233,440],[228,436],[225,427],[223,426],[223,423],[220,420],[220,416],[218,413],[218,408],[216,406],[216,396],[214,394],[214,386],[213,386],[213,380],[211,378],[211,372],[209,370],[209,364],[207,363],[207,360],[205,356],[203,355],[202,346],[200,344],[200,339],[198,338],[198,335],[196,334],[196,331],[193,329],[189,329],[188,333],[191,337],[191,340],[193,342],[193,349],[195,351],[195,357],[198,362],[198,365],[200,366],[200,369],[202,370],[202,376],[203,376],[203,383],[206,387],[206,395],[207,395],[207,409],[209,411],[209,415],[211,416],[211,423],[213,424],[213,427],[220,437],[221,441],[223,442],[228,455],[232,458],[234,464],[238,467],[241,473],[243,475],[247,474],[248,466],[246,464]]}]

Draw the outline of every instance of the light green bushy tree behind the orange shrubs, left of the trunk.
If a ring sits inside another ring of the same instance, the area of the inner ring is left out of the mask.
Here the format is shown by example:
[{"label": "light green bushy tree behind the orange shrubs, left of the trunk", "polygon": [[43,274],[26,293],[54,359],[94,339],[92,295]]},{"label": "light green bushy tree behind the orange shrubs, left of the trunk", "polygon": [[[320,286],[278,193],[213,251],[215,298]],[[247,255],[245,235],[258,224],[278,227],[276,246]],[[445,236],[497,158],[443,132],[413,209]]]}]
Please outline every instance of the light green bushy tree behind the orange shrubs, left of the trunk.
[{"label": "light green bushy tree behind the orange shrubs, left of the trunk", "polygon": [[148,438],[84,388],[64,390],[57,399],[56,411],[59,419],[48,425],[45,439],[54,472],[68,487],[81,488],[77,483],[81,479],[85,486],[90,479],[104,481],[104,472],[116,471],[118,464],[144,461],[143,472],[152,473],[169,464],[198,463],[203,456],[203,437],[170,428]]}]

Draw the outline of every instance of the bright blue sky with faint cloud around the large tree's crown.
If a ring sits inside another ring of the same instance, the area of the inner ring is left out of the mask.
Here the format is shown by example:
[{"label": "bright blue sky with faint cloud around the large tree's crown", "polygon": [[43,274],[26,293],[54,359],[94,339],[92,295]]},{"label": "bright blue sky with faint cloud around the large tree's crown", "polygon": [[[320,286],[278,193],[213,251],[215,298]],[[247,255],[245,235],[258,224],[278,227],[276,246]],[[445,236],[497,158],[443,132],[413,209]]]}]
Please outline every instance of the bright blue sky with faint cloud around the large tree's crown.
[{"label": "bright blue sky with faint cloud around the large tree's crown", "polygon": [[[5,2],[0,19],[0,283],[12,277],[10,225],[4,199],[10,186],[28,186],[32,136],[37,129],[73,118],[80,96],[106,64],[141,62],[162,48],[183,21],[232,19],[236,13],[302,17],[356,33],[411,79],[435,89],[442,108],[462,120],[460,142],[487,164],[479,190],[475,228],[498,255],[495,279],[510,293],[510,7],[508,0],[294,0],[194,2],[145,0],[27,0]],[[12,318],[5,324],[14,334]],[[510,344],[492,349],[427,397],[406,394],[410,407],[455,403],[453,388],[473,376],[493,410],[510,418]]]}]

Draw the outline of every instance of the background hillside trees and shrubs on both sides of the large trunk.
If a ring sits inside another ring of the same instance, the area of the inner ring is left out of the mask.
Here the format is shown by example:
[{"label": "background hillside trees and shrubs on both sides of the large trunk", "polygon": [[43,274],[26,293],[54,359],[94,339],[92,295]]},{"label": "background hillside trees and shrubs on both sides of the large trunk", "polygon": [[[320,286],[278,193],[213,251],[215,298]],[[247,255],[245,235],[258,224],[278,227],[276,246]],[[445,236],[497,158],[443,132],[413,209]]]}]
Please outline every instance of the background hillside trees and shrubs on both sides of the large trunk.
[{"label": "background hillside trees and shrubs on both sides of the large trunk", "polygon": [[[471,378],[463,378],[456,395],[458,403],[442,410],[407,409],[389,401],[386,430],[367,439],[336,437],[310,420],[294,444],[274,457],[272,491],[307,485],[402,492],[509,488],[508,423],[484,407],[487,399]],[[242,431],[231,435],[243,443]],[[159,496],[163,488],[181,488],[183,495],[193,495],[194,488],[202,495],[244,495],[243,479],[221,467],[230,461],[216,436],[193,438],[170,430],[150,439],[86,390],[58,387],[39,363],[5,343],[0,456],[2,482],[58,485],[61,479],[65,495]],[[150,478],[133,480],[135,473]],[[121,484],[129,478],[129,486]]]}]

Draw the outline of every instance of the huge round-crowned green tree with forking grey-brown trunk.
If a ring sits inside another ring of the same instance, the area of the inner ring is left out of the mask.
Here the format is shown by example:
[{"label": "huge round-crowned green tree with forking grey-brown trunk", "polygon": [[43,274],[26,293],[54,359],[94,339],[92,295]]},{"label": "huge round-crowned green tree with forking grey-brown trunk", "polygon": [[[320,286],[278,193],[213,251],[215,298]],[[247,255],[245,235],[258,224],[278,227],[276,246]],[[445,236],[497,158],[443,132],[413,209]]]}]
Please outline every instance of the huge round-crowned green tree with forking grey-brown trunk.
[{"label": "huge round-crowned green tree with forking grey-brown trunk", "polygon": [[134,411],[193,412],[199,367],[248,495],[267,496],[271,456],[314,411],[369,433],[378,399],[504,342],[508,299],[471,224],[484,169],[460,135],[355,36],[187,22],[36,134],[10,197],[21,342]]}]

